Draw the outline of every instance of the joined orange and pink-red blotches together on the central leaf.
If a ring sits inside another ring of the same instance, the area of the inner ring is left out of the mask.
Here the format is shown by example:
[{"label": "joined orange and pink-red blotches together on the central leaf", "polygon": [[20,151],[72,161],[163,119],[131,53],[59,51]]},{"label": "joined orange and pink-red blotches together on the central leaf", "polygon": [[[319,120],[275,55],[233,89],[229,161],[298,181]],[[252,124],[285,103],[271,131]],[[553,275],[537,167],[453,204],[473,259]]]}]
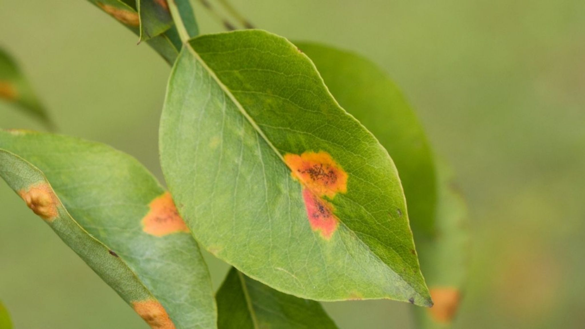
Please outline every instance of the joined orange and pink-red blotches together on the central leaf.
[{"label": "joined orange and pink-red blotches together on the central leaf", "polygon": [[333,160],[329,153],[304,152],[301,155],[288,153],[284,161],[291,169],[294,179],[302,185],[302,197],[307,210],[309,224],[330,239],[339,225],[335,208],[324,197],[332,199],[347,191],[347,173]]}]

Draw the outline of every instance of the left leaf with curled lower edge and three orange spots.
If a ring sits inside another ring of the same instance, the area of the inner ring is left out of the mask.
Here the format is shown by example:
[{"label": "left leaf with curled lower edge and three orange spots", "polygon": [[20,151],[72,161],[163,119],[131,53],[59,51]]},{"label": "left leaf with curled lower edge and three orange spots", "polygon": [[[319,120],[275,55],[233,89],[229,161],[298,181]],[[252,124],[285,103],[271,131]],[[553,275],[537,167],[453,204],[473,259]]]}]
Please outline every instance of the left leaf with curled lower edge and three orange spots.
[{"label": "left leaf with curled lower edge and three orange spots", "polygon": [[0,176],[153,328],[174,328],[168,316],[177,328],[215,328],[198,245],[135,159],[66,136],[0,131]]}]

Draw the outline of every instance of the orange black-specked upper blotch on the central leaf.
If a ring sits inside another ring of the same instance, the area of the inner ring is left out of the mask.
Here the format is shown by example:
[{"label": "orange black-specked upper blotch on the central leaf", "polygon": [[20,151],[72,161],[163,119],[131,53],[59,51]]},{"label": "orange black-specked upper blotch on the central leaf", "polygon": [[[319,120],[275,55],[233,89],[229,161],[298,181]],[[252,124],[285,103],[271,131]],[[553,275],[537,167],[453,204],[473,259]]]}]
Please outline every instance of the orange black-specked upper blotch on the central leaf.
[{"label": "orange black-specked upper blotch on the central leaf", "polygon": [[327,152],[289,153],[284,155],[284,162],[290,167],[292,177],[319,197],[333,198],[338,192],[347,191],[347,173]]}]

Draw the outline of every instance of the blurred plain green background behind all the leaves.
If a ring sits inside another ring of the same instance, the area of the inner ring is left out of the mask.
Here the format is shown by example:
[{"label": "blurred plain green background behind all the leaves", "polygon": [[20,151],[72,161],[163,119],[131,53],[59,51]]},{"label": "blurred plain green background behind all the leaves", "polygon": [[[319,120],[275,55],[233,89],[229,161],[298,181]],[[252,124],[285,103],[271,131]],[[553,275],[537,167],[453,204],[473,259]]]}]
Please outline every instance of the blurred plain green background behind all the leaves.
[{"label": "blurred plain green background behind all the leaves", "polygon": [[[233,0],[259,28],[380,64],[455,169],[473,230],[456,328],[585,323],[583,0]],[[203,32],[222,30],[201,6]],[[160,176],[169,67],[83,0],[3,0],[0,46],[60,132],[124,150]],[[0,103],[0,127],[42,129]],[[146,328],[0,184],[0,299],[16,328]],[[217,287],[227,266],[210,259]],[[409,328],[409,304],[326,303],[340,328]]]}]

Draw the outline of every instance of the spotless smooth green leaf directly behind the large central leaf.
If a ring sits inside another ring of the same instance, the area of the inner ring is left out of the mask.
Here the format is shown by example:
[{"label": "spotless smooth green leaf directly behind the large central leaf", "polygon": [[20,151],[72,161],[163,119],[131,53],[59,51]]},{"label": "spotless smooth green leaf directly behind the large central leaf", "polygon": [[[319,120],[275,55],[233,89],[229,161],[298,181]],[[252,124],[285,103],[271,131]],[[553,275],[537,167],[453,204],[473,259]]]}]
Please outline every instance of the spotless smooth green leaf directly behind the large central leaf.
[{"label": "spotless smooth green leaf directly behind the large central leaf", "polygon": [[415,236],[434,232],[435,163],[424,129],[402,92],[376,64],[354,53],[295,42],[339,104],[369,129],[394,160]]}]

